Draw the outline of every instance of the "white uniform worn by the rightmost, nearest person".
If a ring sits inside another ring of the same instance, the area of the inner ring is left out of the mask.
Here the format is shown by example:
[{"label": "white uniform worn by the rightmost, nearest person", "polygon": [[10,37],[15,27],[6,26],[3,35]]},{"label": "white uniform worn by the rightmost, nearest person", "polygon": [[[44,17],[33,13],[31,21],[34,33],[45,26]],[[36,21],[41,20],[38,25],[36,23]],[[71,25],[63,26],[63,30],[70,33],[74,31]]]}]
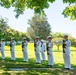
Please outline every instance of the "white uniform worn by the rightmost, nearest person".
[{"label": "white uniform worn by the rightmost, nearest person", "polygon": [[64,65],[65,68],[71,68],[70,64],[70,46],[71,46],[71,41],[70,40],[64,40],[65,48],[63,51],[63,58],[64,58]]}]

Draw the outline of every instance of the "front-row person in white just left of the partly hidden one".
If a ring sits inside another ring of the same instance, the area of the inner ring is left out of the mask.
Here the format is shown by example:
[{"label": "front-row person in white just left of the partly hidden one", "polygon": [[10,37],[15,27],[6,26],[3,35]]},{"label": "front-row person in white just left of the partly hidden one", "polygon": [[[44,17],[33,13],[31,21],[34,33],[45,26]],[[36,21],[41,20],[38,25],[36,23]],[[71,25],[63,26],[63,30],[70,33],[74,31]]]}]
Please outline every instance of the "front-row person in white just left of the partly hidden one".
[{"label": "front-row person in white just left of the partly hidden one", "polygon": [[36,36],[36,39],[34,41],[34,48],[35,48],[36,63],[40,64],[41,59],[40,59],[40,40],[39,40],[39,36]]}]

